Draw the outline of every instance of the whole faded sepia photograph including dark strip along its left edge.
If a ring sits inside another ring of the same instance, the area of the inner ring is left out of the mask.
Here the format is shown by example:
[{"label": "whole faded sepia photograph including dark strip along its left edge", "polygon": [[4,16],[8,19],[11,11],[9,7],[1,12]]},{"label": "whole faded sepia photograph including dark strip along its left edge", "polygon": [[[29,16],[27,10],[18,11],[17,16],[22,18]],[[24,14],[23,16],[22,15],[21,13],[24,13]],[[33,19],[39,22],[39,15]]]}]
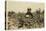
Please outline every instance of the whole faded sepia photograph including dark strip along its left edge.
[{"label": "whole faded sepia photograph including dark strip along its left edge", "polygon": [[44,28],[44,3],[5,1],[5,30]]}]

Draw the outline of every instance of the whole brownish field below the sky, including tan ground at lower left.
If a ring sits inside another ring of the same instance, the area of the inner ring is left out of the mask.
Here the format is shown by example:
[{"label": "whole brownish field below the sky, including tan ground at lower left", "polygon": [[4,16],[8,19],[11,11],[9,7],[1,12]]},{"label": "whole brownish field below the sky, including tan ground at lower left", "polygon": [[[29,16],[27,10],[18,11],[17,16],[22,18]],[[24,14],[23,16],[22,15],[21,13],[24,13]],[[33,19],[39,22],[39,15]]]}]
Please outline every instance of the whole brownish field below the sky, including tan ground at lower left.
[{"label": "whole brownish field below the sky, including tan ground at lower left", "polygon": [[8,12],[8,29],[31,29],[44,27],[44,11],[33,12],[33,18],[25,17],[26,13]]}]

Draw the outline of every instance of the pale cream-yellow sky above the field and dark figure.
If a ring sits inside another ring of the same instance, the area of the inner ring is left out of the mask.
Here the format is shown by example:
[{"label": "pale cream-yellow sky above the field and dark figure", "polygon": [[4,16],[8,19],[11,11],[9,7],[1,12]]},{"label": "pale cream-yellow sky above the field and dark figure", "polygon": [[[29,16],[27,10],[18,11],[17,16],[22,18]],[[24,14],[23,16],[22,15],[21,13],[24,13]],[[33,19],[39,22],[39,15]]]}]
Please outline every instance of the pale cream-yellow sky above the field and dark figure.
[{"label": "pale cream-yellow sky above the field and dark figure", "polygon": [[27,8],[31,8],[32,12],[35,12],[39,8],[42,11],[44,9],[44,3],[7,1],[7,11],[26,13]]}]

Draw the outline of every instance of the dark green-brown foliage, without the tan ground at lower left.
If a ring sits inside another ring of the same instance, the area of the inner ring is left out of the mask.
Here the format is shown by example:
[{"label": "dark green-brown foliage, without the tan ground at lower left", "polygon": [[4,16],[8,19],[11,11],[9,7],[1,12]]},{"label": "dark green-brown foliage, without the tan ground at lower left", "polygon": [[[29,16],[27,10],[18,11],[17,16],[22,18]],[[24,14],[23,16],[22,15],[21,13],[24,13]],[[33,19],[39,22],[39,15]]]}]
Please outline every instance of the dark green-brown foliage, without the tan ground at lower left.
[{"label": "dark green-brown foliage, without the tan ground at lower left", "polygon": [[[41,28],[44,27],[44,13],[36,11],[33,14],[33,18],[25,18],[25,13],[8,12],[8,17],[15,17],[19,22],[18,28]],[[16,20],[15,20],[16,21]]]}]

